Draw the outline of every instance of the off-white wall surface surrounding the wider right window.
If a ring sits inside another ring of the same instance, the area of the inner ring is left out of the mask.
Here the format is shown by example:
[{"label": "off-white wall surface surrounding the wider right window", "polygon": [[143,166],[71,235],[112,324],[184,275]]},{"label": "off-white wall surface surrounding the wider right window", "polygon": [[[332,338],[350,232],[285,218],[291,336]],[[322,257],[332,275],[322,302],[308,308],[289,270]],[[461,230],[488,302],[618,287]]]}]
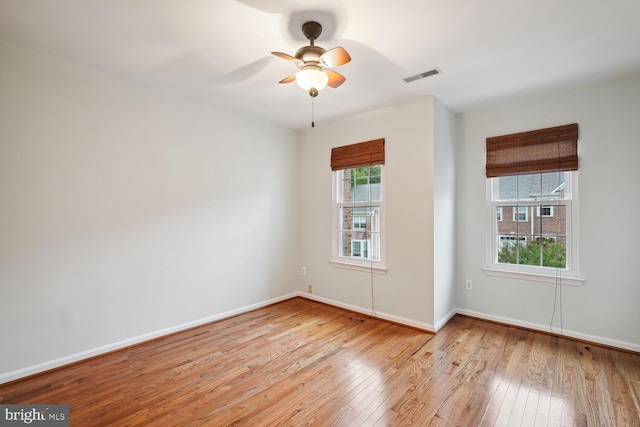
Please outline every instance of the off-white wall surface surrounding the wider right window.
[{"label": "off-white wall surface surrounding the wider right window", "polygon": [[[640,75],[521,97],[457,117],[458,306],[548,330],[554,285],[491,277],[485,264],[487,137],[579,124],[581,287],[562,287],[564,333],[640,350]],[[464,290],[464,279],[473,291]],[[559,302],[558,302],[559,303]],[[554,327],[560,327],[559,312]]]}]

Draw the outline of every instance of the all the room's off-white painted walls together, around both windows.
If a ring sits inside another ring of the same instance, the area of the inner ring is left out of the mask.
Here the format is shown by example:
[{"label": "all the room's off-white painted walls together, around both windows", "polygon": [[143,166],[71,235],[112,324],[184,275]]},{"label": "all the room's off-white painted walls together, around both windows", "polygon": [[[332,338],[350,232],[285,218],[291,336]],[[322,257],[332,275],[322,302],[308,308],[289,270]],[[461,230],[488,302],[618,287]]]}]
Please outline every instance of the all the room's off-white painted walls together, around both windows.
[{"label": "all the room's off-white painted walls together, around both windows", "polygon": [[563,288],[564,332],[638,349],[638,117],[640,75],[478,108],[455,132],[425,97],[297,135],[0,42],[0,382],[307,284],[370,310],[371,276],[329,265],[329,158],[381,137],[377,313],[434,328],[457,306],[547,327],[552,285],[481,270],[485,139],[572,122],[586,281]]}]

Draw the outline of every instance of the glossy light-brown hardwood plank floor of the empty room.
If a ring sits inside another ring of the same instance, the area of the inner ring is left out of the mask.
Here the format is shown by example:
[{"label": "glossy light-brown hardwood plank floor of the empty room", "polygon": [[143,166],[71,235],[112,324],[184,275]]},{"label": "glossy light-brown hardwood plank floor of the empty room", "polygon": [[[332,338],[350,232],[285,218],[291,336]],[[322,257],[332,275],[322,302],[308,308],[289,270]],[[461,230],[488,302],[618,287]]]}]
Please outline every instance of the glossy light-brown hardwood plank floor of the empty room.
[{"label": "glossy light-brown hardwood plank floor of the empty room", "polygon": [[640,355],[294,298],[10,384],[72,426],[640,426]]}]

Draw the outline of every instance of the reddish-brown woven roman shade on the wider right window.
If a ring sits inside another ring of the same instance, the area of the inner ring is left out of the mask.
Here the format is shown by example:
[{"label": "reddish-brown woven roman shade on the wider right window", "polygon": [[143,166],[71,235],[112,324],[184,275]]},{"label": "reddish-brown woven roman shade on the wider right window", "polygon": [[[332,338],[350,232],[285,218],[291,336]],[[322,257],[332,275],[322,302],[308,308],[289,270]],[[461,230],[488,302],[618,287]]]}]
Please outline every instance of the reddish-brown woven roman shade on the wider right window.
[{"label": "reddish-brown woven roman shade on the wider right window", "polygon": [[487,138],[487,178],[578,170],[576,123]]}]

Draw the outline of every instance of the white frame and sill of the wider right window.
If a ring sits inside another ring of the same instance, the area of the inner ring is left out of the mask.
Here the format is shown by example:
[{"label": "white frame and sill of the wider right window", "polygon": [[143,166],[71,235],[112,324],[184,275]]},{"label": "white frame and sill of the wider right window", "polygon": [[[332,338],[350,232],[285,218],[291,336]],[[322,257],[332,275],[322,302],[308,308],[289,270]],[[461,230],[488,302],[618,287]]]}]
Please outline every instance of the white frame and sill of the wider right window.
[{"label": "white frame and sill of the wider right window", "polygon": [[[571,218],[570,227],[567,229],[567,242],[568,247],[570,249],[569,256],[567,257],[567,268],[566,269],[557,269],[551,267],[537,267],[537,266],[527,266],[527,265],[516,265],[516,264],[499,264],[497,262],[497,246],[499,244],[498,240],[495,236],[498,235],[496,227],[497,221],[497,204],[503,204],[505,201],[494,202],[493,200],[496,198],[495,193],[497,192],[497,188],[493,188],[492,179],[486,180],[486,200],[487,200],[487,209],[486,215],[486,232],[487,238],[486,241],[486,264],[482,269],[485,274],[490,276],[498,276],[498,277],[507,277],[512,279],[521,279],[521,280],[529,280],[535,282],[543,282],[543,283],[559,283],[562,285],[570,285],[570,286],[581,286],[584,282],[583,278],[579,277],[579,269],[578,269],[578,210],[572,209],[573,206],[577,206],[578,204],[578,174],[577,172],[569,172],[567,174],[567,181],[565,183],[566,191],[570,191],[570,200],[562,200],[558,203],[561,203],[566,206],[566,216],[567,218]],[[512,205],[516,205],[515,201],[506,201]],[[526,201],[521,201],[524,203],[528,203]],[[545,203],[545,206],[549,206],[551,203],[548,201]],[[515,210],[515,209],[514,209]]]}]

